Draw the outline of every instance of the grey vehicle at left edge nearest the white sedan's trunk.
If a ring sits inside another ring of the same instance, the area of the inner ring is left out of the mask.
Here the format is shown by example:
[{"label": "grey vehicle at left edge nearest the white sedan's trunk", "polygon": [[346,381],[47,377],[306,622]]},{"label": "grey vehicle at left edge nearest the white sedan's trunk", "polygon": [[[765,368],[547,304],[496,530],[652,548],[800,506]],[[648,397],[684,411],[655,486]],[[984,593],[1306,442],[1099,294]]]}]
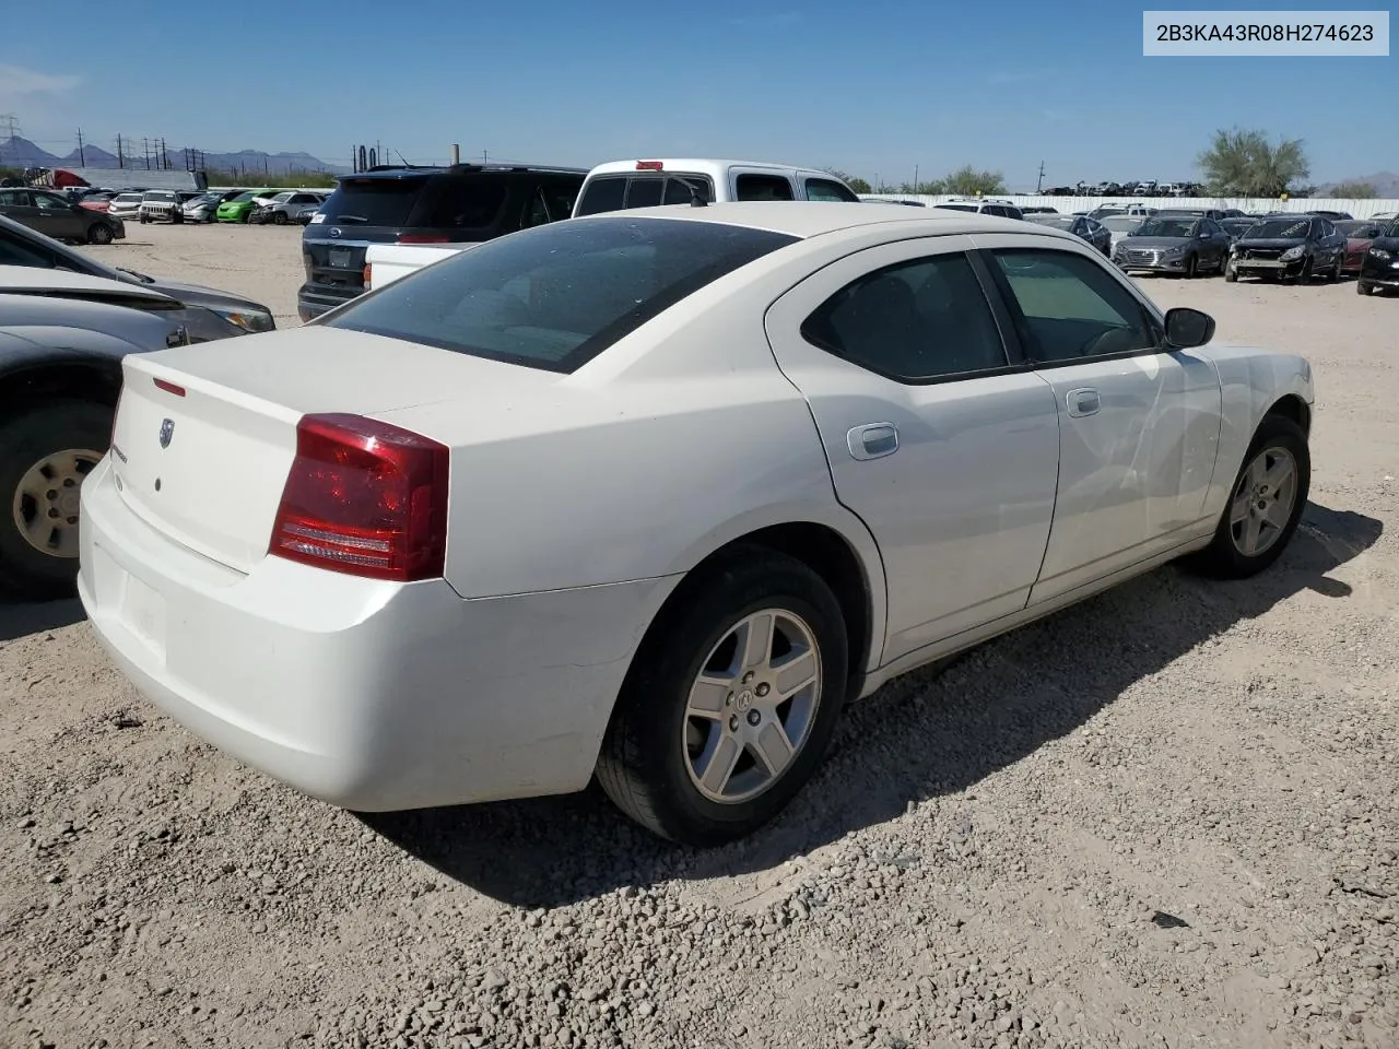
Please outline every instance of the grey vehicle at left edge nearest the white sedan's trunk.
[{"label": "grey vehicle at left edge nearest the white sedan's trunk", "polygon": [[187,340],[178,304],[159,298],[122,305],[0,288],[0,589],[71,592],[78,491],[108,449],[122,358]]}]

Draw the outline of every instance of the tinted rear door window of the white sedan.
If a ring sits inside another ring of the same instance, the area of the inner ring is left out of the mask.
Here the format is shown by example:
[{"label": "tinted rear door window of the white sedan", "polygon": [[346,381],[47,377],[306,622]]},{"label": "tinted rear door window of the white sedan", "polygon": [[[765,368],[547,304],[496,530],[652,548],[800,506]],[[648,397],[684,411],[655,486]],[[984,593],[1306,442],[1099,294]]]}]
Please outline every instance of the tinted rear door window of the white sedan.
[{"label": "tinted rear door window of the white sedan", "polygon": [[802,334],[902,382],[1007,365],[981,281],[961,253],[915,259],[852,281],[806,319]]}]

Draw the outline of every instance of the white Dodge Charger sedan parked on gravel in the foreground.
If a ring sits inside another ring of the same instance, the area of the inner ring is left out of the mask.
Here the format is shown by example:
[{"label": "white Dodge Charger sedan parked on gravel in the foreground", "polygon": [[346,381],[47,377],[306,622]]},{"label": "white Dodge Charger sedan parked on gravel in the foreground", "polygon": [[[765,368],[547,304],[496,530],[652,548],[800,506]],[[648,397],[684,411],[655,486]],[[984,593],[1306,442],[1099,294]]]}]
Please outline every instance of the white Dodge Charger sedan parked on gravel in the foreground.
[{"label": "white Dodge Charger sedan parked on gravel in the foreground", "polygon": [[159,708],[353,810],[578,790],[760,827],[841,708],[1297,527],[1312,378],[1083,241],[879,204],[621,211],[306,327],[127,357],[83,604]]}]

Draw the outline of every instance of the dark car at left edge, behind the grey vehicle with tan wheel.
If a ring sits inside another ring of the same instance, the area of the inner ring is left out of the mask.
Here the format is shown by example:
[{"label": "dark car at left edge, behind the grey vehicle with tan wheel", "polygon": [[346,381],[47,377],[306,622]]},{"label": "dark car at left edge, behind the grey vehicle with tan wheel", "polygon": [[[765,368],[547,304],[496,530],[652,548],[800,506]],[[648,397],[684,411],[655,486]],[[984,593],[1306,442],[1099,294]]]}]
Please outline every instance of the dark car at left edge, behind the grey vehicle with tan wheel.
[{"label": "dark car at left edge, behind the grey vehicle with tan wheel", "polygon": [[83,252],[76,252],[43,234],[36,234],[3,217],[0,217],[0,266],[71,270],[73,273],[85,273],[90,277],[140,284],[151,291],[164,292],[185,305],[189,337],[193,343],[271,331],[277,327],[271,311],[260,302],[231,295],[227,291],[203,288],[197,284],[157,280],[125,267],[102,266]]}]

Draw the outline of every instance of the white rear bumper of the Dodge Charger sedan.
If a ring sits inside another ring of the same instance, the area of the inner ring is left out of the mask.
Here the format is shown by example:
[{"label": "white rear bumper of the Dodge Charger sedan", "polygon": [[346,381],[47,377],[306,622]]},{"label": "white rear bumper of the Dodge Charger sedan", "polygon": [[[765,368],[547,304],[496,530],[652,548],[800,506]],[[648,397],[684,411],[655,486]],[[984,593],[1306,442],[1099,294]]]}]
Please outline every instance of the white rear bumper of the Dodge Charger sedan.
[{"label": "white rear bumper of the Dodge Charger sedan", "polygon": [[122,673],[194,734],[360,811],[586,786],[670,580],[462,600],[267,558],[241,575],[83,485],[78,593]]}]

